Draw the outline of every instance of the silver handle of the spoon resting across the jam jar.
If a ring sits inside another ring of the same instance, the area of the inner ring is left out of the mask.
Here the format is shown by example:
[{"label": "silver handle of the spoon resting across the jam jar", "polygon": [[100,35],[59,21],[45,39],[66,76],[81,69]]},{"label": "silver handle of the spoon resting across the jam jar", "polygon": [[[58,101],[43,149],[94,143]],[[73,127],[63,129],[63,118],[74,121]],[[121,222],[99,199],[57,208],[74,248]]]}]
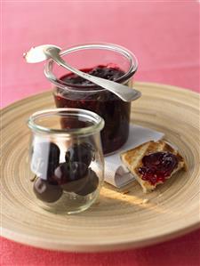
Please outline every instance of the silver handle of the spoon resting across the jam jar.
[{"label": "silver handle of the spoon resting across the jam jar", "polygon": [[[46,52],[48,52],[48,50]],[[78,75],[79,77],[83,77],[84,79],[91,81],[95,85],[100,85],[108,91],[115,93],[123,101],[133,101],[140,98],[141,96],[141,93],[139,91],[132,89],[126,85],[118,84],[101,77],[93,77],[78,69],[74,69],[73,67],[69,66],[64,60],[62,60],[59,53],[56,51],[54,52],[53,49],[51,50],[51,52],[49,52],[49,56],[61,67],[68,69],[73,73],[76,73],[76,75]]]}]

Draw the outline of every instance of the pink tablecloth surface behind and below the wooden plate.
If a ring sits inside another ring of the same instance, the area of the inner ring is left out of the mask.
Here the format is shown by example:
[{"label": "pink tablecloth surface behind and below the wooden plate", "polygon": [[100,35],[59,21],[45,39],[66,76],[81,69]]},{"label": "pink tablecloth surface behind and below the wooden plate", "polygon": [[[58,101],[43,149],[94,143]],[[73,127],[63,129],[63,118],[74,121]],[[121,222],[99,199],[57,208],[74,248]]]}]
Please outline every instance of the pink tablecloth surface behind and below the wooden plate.
[{"label": "pink tablecloth surface behind and below the wooden plate", "polygon": [[[32,45],[65,48],[85,42],[121,44],[139,59],[136,80],[199,89],[197,1],[3,1],[4,107],[48,90],[42,64],[28,65]],[[169,242],[115,253],[44,251],[2,238],[1,265],[199,265],[200,230]]]}]

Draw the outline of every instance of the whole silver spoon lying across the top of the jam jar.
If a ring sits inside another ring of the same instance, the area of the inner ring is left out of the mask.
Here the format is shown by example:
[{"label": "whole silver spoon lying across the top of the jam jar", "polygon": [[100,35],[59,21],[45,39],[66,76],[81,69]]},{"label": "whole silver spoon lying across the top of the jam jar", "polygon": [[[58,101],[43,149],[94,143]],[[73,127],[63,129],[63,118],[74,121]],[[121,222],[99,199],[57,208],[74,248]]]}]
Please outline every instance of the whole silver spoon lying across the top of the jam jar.
[{"label": "whole silver spoon lying across the top of the jam jar", "polygon": [[91,81],[93,84],[100,85],[101,87],[107,89],[109,92],[115,93],[123,101],[134,101],[140,98],[141,93],[135,89],[129,88],[126,85],[118,84],[114,81],[107,80],[105,78],[91,76],[87,73],[84,73],[78,69],[69,66],[60,57],[60,52],[60,47],[52,44],[45,44],[31,48],[30,51],[24,53],[24,58],[27,60],[28,63],[36,63],[52,59],[59,66],[68,69],[79,77],[83,77],[84,79]]}]

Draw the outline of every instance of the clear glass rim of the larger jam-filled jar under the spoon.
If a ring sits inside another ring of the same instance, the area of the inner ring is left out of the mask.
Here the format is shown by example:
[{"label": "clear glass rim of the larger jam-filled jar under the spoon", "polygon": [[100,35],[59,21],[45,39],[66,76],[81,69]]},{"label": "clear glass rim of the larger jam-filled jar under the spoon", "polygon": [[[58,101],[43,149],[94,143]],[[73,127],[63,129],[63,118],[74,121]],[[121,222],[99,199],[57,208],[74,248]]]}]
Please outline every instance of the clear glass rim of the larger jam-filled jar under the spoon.
[{"label": "clear glass rim of the larger jam-filled jar under the spoon", "polygon": [[[109,43],[87,43],[87,44],[77,44],[74,46],[69,47],[67,50],[64,50],[60,52],[60,55],[66,55],[70,52],[76,52],[82,49],[102,49],[102,50],[110,50],[110,51],[116,51],[118,53],[121,53],[130,61],[130,68],[125,72],[125,74],[122,77],[118,77],[115,82],[117,83],[124,83],[124,81],[127,81],[129,78],[132,77],[132,75],[136,72],[138,69],[138,60],[136,56],[129,51],[128,49],[124,48],[121,45],[118,44],[109,44]],[[73,88],[76,88],[76,93],[98,93],[98,92],[107,92],[104,88],[95,89],[94,85],[72,85],[64,82],[60,78],[55,77],[52,74],[52,66],[54,62],[53,60],[48,60],[44,67],[44,75],[49,79],[54,85],[61,86],[63,89],[72,91]],[[78,90],[81,89],[80,91]],[[88,90],[87,90],[88,89]]]}]

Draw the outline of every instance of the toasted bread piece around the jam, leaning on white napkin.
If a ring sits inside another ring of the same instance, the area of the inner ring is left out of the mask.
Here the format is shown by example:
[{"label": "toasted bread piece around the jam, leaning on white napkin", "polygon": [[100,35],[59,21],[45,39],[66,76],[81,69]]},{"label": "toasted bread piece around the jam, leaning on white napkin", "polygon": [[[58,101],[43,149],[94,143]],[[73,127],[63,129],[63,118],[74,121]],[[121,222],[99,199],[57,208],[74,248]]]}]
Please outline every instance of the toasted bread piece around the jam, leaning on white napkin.
[{"label": "toasted bread piece around the jam, leaning on white napkin", "polygon": [[165,177],[165,179],[171,178],[172,174],[178,172],[181,168],[186,170],[187,166],[183,157],[181,157],[180,153],[165,141],[148,141],[134,149],[127,150],[120,155],[124,165],[130,170],[136,180],[139,181],[144,193],[156,189],[158,184],[164,182],[157,181],[156,184],[152,184],[150,181],[143,180],[142,174],[139,173],[139,169],[143,165],[142,158],[158,151],[170,152],[178,159],[178,165],[173,169],[171,175]]}]

